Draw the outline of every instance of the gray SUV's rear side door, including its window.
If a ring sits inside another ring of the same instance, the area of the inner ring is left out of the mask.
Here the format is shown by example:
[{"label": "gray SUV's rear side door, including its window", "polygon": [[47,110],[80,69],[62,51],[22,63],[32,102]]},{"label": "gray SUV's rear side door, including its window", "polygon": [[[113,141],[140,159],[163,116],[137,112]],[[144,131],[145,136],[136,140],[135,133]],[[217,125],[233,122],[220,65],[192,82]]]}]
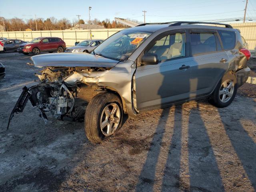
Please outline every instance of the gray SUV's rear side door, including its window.
[{"label": "gray SUV's rear side door, including its window", "polygon": [[210,94],[228,70],[228,55],[216,30],[190,29],[190,98]]}]

